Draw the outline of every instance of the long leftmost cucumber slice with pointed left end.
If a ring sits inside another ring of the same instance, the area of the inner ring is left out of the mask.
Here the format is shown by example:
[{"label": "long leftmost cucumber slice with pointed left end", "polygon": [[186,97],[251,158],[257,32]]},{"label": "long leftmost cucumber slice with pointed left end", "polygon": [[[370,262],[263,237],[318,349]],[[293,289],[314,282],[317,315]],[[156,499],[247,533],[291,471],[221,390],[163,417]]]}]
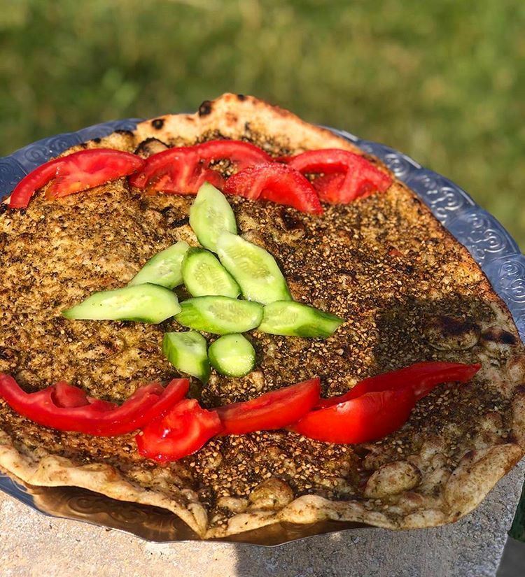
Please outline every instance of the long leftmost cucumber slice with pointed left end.
[{"label": "long leftmost cucumber slice with pointed left end", "polygon": [[174,292],[146,283],[95,292],[80,304],[62,311],[69,319],[136,320],[156,325],[181,311]]}]

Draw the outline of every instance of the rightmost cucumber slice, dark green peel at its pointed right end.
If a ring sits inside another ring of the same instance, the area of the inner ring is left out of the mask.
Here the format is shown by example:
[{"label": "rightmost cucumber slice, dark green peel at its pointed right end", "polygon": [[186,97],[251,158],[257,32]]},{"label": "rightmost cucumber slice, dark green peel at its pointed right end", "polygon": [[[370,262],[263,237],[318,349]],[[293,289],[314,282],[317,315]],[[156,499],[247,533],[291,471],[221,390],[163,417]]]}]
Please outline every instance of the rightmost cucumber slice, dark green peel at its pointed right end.
[{"label": "rightmost cucumber slice, dark green peel at its pointed right end", "polygon": [[259,331],[285,336],[330,336],[344,320],[318,308],[292,301],[265,306]]}]

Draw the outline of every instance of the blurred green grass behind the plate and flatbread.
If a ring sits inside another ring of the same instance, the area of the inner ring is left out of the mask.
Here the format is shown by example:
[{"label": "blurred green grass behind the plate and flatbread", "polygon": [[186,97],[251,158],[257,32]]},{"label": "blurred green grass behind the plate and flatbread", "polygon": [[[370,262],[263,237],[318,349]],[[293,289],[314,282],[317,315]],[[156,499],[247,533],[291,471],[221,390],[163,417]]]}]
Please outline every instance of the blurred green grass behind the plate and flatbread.
[{"label": "blurred green grass behind the plate and flatbread", "polygon": [[443,173],[525,248],[522,0],[0,0],[0,155],[255,94]]}]

